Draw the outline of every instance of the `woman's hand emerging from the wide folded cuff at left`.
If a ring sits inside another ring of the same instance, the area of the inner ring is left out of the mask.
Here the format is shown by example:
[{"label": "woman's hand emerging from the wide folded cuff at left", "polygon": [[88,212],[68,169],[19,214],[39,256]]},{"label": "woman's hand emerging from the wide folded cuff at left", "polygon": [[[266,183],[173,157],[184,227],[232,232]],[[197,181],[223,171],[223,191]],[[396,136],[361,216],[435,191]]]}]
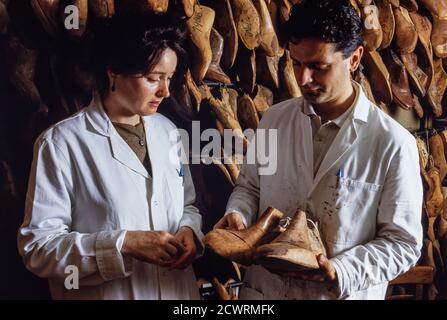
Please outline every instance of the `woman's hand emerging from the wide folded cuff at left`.
[{"label": "woman's hand emerging from the wide folded cuff at left", "polygon": [[127,231],[121,253],[167,267],[185,255],[187,248],[182,242],[177,235],[173,236],[166,231]]}]

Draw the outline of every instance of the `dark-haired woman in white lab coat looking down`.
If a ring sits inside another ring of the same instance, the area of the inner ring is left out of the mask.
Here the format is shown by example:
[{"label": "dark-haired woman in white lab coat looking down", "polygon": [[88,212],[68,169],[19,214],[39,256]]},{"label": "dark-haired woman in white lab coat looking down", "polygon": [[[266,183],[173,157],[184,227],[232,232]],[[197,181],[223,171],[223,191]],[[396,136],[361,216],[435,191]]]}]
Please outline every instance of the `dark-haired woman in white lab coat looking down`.
[{"label": "dark-haired woman in white lab coat looking down", "polygon": [[157,113],[183,39],[163,16],[113,18],[91,104],[37,139],[18,244],[53,298],[199,298],[201,216],[176,128]]}]

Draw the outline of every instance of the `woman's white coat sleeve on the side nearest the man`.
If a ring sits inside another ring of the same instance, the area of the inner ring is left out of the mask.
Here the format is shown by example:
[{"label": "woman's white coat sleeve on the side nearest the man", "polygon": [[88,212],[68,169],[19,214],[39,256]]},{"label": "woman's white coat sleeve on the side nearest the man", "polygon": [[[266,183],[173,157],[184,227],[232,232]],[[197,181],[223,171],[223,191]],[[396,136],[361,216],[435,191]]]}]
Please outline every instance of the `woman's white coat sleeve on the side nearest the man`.
[{"label": "woman's white coat sleeve on the side nearest the man", "polygon": [[196,201],[196,192],[194,188],[194,183],[191,177],[191,172],[188,165],[183,164],[184,171],[184,209],[183,216],[180,220],[180,227],[189,227],[192,229],[196,236],[197,256],[203,254],[205,247],[202,242],[202,215],[199,213],[199,209],[194,206]]}]

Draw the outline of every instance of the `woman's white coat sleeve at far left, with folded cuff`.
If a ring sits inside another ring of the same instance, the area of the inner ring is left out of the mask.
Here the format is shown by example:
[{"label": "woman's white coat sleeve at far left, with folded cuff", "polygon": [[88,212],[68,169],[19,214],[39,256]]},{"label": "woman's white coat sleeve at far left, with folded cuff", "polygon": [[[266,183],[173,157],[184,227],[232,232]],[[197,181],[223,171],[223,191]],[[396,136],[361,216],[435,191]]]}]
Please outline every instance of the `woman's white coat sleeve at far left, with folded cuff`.
[{"label": "woman's white coat sleeve at far left, with folded cuff", "polygon": [[124,230],[91,234],[71,230],[76,191],[67,159],[54,141],[36,142],[25,217],[18,232],[25,266],[40,277],[61,281],[66,268],[74,266],[80,285],[128,276],[131,260],[124,261],[120,253]]}]

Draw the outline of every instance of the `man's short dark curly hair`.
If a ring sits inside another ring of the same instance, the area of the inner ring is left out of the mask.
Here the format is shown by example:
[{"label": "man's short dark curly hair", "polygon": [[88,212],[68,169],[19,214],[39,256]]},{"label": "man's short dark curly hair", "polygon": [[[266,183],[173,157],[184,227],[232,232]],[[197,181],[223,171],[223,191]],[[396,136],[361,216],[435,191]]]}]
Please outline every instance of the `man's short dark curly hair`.
[{"label": "man's short dark curly hair", "polygon": [[349,0],[304,0],[293,7],[281,35],[292,42],[316,38],[348,58],[363,43],[362,21]]}]

